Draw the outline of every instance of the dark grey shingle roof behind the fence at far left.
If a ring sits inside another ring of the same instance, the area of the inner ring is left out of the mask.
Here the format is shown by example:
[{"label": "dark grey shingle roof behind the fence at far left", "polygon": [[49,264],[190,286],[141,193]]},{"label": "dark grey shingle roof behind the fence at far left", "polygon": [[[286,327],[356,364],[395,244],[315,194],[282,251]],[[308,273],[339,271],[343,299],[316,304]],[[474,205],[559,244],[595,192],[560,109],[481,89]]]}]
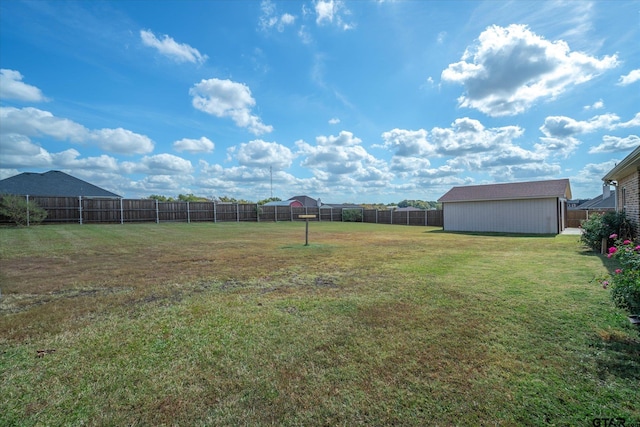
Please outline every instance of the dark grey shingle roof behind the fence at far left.
[{"label": "dark grey shingle roof behind the fence at far left", "polygon": [[48,197],[92,197],[119,199],[121,196],[60,171],[24,172],[0,180],[0,195]]}]

